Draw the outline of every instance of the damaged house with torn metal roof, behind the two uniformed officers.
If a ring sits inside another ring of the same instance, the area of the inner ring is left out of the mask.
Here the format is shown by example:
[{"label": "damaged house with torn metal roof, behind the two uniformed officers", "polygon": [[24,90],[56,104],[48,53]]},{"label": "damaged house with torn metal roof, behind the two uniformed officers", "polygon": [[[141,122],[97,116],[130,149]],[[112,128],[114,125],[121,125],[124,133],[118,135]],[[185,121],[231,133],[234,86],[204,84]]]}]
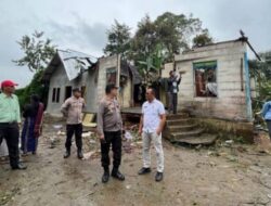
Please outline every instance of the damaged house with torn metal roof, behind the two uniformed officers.
[{"label": "damaged house with torn metal roof, behind the two uniformed officers", "polygon": [[133,106],[133,89],[141,82],[137,69],[119,55],[95,59],[72,50],[56,51],[43,79],[49,83],[47,112],[51,115],[61,114],[61,105],[78,87],[87,102],[86,112],[95,113],[107,83],[119,86],[121,107]]}]

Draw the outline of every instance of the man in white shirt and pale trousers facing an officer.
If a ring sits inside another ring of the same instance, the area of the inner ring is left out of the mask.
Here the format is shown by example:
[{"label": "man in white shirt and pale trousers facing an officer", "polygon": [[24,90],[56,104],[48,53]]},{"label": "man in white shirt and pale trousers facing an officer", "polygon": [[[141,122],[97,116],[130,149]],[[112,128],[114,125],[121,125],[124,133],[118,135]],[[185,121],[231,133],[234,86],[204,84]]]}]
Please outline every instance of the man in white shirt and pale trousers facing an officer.
[{"label": "man in white shirt and pale trousers facing an officer", "polygon": [[163,180],[164,172],[164,152],[162,146],[162,130],[166,123],[166,113],[160,101],[155,99],[154,89],[146,90],[146,102],[142,106],[139,133],[143,139],[143,167],[139,175],[151,172],[151,141],[154,142],[157,160],[156,181]]}]

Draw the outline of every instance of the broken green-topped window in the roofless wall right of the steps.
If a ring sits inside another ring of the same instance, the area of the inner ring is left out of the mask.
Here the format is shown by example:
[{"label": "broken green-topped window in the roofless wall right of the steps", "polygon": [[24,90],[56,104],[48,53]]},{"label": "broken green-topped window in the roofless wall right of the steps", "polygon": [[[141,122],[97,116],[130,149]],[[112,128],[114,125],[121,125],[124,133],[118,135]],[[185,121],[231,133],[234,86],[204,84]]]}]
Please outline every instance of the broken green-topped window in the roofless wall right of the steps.
[{"label": "broken green-topped window in the roofless wall right of the steps", "polygon": [[193,64],[196,96],[218,95],[217,91],[217,61]]}]

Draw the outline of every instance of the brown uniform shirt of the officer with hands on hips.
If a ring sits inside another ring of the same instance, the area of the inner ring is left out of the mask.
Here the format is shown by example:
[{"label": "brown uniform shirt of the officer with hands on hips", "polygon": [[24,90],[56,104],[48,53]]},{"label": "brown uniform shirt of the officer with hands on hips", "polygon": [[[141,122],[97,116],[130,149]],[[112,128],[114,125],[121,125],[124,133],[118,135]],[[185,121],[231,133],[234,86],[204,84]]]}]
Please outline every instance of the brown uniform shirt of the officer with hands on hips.
[{"label": "brown uniform shirt of the officer with hands on hips", "polygon": [[61,106],[61,112],[67,118],[67,125],[77,125],[82,123],[82,108],[85,100],[82,98],[68,98]]}]

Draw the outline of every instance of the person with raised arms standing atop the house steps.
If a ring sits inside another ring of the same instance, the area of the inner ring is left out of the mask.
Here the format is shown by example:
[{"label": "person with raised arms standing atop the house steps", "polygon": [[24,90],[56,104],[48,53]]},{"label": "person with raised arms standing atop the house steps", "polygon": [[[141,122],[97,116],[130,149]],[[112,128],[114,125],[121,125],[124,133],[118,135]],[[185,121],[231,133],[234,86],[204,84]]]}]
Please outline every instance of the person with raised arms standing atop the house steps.
[{"label": "person with raised arms standing atop the house steps", "polygon": [[177,114],[178,92],[180,82],[181,82],[181,74],[176,75],[175,70],[170,70],[168,79],[169,113]]}]

